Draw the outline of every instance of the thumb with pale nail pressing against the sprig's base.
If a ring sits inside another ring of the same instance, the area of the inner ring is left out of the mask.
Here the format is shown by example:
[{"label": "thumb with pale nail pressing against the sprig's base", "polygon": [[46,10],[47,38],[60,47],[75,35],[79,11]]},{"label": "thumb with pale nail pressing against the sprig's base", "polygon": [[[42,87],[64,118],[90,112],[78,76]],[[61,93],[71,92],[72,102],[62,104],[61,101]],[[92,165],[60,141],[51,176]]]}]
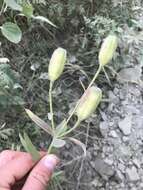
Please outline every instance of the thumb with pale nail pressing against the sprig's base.
[{"label": "thumb with pale nail pressing against the sprig's base", "polygon": [[29,174],[22,190],[46,190],[58,162],[59,160],[55,155],[43,157]]}]

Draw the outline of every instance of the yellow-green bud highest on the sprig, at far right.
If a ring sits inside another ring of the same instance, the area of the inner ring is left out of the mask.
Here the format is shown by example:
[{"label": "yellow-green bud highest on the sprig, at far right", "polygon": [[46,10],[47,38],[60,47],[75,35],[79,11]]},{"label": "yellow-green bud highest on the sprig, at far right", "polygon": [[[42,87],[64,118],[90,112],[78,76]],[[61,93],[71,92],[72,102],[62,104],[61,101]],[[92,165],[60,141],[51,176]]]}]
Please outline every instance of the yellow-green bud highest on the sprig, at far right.
[{"label": "yellow-green bud highest on the sprig, at far right", "polygon": [[109,35],[104,39],[99,52],[99,64],[104,66],[111,61],[118,45],[118,39],[115,35]]}]

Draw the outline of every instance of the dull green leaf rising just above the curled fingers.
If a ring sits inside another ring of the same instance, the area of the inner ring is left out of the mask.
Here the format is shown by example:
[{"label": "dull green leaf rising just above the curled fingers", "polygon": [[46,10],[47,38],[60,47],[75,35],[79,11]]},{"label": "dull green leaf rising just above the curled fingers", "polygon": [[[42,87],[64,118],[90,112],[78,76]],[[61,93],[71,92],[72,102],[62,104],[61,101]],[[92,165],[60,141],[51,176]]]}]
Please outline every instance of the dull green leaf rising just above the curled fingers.
[{"label": "dull green leaf rising just above the curled fingers", "polygon": [[34,161],[38,161],[40,159],[40,154],[37,151],[37,149],[35,148],[35,146],[33,145],[33,143],[31,142],[28,135],[26,133],[24,133],[24,137],[22,137],[22,135],[19,135],[19,137],[20,137],[20,141],[21,141],[23,147],[25,148],[25,150],[31,154],[32,159]]}]

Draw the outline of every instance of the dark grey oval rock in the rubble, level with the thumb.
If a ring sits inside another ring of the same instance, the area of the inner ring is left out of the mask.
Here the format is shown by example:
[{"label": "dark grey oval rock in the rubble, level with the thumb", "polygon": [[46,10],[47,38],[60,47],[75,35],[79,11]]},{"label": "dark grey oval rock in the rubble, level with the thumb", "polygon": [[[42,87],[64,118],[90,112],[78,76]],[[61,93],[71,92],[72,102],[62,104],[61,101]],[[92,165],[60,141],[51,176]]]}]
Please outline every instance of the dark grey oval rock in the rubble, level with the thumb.
[{"label": "dark grey oval rock in the rubble, level with the thumb", "polygon": [[115,173],[113,168],[101,158],[95,160],[94,168],[104,180],[108,180]]}]

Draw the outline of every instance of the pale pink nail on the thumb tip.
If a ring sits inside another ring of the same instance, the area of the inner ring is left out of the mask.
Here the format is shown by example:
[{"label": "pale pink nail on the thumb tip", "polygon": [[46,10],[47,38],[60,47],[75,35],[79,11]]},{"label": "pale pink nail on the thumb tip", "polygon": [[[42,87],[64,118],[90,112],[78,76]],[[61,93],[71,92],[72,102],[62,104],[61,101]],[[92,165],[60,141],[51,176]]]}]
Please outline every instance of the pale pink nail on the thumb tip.
[{"label": "pale pink nail on the thumb tip", "polygon": [[51,154],[51,155],[45,156],[44,165],[51,172],[55,169],[58,162],[59,160],[55,155]]}]

